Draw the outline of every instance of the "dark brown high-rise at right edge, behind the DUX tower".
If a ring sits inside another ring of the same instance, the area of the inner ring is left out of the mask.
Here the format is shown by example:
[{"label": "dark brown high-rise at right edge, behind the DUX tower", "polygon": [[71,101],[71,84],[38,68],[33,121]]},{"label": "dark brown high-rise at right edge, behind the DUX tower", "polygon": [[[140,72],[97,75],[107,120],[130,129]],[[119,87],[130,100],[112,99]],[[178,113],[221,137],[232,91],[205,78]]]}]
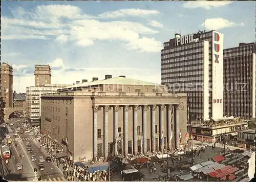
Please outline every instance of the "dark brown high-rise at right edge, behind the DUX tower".
[{"label": "dark brown high-rise at right edge, behind the DUX tower", "polygon": [[255,118],[255,43],[224,50],[224,115]]}]

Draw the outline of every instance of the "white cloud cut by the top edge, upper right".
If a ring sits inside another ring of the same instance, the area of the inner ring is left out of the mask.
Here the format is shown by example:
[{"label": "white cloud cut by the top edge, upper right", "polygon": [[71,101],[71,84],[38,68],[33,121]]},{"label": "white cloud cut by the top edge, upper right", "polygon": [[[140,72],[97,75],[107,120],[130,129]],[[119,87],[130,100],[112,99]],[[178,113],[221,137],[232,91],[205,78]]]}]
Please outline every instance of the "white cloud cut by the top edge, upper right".
[{"label": "white cloud cut by the top edge, upper right", "polygon": [[231,4],[231,1],[189,1],[183,4],[184,8],[204,8],[210,9],[212,7],[222,7]]}]

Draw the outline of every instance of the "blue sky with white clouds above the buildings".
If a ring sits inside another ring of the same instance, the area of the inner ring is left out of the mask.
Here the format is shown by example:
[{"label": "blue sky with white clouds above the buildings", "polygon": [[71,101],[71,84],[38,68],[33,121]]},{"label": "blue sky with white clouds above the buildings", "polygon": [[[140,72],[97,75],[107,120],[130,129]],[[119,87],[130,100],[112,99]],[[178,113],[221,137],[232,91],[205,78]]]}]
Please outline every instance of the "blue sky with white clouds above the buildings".
[{"label": "blue sky with white clouds above the buildings", "polygon": [[52,83],[125,75],[161,83],[161,49],[174,34],[216,30],[224,48],[255,41],[253,1],[4,1],[1,61],[13,88],[34,86],[35,64],[49,64]]}]

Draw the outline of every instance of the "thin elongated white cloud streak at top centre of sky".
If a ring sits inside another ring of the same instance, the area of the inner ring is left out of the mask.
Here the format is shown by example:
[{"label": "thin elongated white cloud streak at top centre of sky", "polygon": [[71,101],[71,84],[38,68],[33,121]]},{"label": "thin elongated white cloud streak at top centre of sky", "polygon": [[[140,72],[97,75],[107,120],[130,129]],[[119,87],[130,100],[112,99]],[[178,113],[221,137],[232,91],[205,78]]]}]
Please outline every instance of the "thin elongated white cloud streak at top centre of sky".
[{"label": "thin elongated white cloud streak at top centre of sky", "polygon": [[159,14],[157,10],[143,10],[143,9],[120,9],[117,11],[105,12],[99,15],[102,18],[118,18],[124,16],[142,16],[142,15],[156,15]]}]

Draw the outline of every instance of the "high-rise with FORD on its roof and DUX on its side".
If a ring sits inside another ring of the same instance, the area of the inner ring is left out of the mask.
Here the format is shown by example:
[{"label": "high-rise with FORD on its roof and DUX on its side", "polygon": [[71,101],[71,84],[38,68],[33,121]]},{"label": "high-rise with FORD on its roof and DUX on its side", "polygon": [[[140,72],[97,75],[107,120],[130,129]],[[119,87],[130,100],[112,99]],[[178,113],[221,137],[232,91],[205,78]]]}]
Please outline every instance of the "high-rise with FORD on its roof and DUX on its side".
[{"label": "high-rise with FORD on its roof and DUX on its side", "polygon": [[187,93],[190,120],[223,118],[223,34],[175,34],[161,50],[161,79]]}]

